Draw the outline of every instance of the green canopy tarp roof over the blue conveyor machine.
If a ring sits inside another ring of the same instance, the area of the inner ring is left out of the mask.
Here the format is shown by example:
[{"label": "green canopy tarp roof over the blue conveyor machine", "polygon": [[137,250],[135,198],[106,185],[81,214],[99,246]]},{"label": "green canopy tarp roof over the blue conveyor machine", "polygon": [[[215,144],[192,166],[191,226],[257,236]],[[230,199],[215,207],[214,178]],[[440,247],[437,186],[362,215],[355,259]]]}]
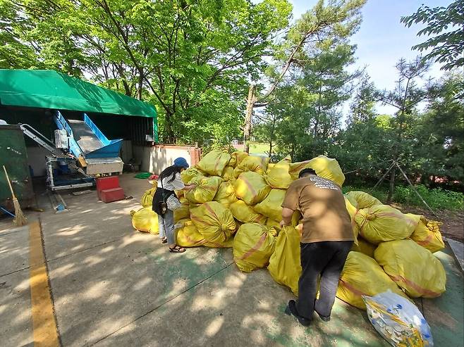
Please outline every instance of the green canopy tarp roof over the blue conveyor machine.
[{"label": "green canopy tarp roof over the blue conveyor machine", "polygon": [[[0,69],[0,104],[149,117],[154,106],[53,70]],[[156,130],[155,130],[156,132]]]}]

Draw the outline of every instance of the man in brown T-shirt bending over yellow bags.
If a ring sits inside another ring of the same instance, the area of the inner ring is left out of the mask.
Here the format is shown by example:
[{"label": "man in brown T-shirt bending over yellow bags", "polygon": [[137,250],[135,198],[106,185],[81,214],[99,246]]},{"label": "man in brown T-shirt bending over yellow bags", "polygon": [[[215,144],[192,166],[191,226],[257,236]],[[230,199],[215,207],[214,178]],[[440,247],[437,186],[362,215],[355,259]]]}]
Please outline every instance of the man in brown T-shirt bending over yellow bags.
[{"label": "man in brown T-shirt bending over yellow bags", "polygon": [[[283,225],[290,225],[295,210],[303,215],[300,239],[301,272],[298,301],[288,301],[286,313],[307,326],[314,311],[329,322],[338,277],[353,245],[354,235],[345,199],[334,182],[318,177],[312,169],[300,171],[282,203]],[[319,299],[317,277],[321,276]]]}]

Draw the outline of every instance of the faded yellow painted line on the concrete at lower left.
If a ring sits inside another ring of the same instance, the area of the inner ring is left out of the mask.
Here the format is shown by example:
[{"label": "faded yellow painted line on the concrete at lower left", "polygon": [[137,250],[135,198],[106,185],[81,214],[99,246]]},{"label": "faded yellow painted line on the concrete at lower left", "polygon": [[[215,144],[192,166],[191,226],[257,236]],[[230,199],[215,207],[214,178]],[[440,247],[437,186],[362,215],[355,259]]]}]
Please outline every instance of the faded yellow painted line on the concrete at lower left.
[{"label": "faded yellow painted line on the concrete at lower left", "polygon": [[40,223],[29,225],[30,297],[35,347],[59,347]]}]

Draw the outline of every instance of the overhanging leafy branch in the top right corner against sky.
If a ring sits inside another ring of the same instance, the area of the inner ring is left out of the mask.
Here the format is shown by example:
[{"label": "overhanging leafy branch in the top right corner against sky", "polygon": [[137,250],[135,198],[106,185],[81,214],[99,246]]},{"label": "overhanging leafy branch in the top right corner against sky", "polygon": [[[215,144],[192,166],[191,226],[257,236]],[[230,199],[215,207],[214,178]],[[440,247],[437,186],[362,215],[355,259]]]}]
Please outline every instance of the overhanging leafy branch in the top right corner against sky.
[{"label": "overhanging leafy branch in the top right corner against sky", "polygon": [[[448,7],[422,5],[416,13],[401,18],[408,27],[423,23],[427,26],[417,32],[417,36],[427,35],[427,41],[413,46],[418,51],[432,49],[424,57],[438,63],[444,63],[442,70],[452,70],[464,66],[464,2],[456,0]],[[452,29],[452,30],[448,30]]]}]

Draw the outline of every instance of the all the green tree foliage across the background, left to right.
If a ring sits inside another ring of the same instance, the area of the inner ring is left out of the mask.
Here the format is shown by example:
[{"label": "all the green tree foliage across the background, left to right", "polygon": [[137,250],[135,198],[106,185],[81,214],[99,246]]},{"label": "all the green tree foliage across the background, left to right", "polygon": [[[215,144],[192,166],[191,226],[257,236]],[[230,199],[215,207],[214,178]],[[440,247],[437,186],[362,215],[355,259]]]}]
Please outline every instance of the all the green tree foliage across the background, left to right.
[{"label": "all the green tree foliage across the background, left to right", "polygon": [[[161,141],[197,143],[204,152],[231,151],[231,140],[242,138],[252,82],[255,108],[267,105],[254,115],[261,144],[252,152],[295,161],[325,154],[353,171],[351,184],[373,185],[394,159],[415,183],[464,187],[460,71],[424,83],[430,63],[401,59],[396,87],[376,91],[369,77],[350,69],[350,37],[365,0],[319,0],[290,26],[288,0],[255,2],[0,0],[0,68],[59,70],[149,101],[157,106]],[[434,35],[415,47],[432,48],[425,58],[446,70],[463,66],[463,37],[455,30],[464,21],[463,1],[422,6],[402,20],[426,23],[419,34]],[[264,74],[272,86],[266,93]],[[396,112],[378,115],[378,102]],[[404,200],[403,193],[394,196]]]}]

